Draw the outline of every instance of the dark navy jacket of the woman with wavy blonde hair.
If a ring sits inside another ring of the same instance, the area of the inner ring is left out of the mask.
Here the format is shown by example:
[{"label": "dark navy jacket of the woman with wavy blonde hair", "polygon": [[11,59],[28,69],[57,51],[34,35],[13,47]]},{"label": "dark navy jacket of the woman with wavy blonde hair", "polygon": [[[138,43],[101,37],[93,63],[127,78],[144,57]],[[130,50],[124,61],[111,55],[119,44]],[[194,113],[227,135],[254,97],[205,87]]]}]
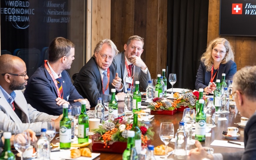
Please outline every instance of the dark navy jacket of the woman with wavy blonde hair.
[{"label": "dark navy jacket of the woman with wavy blonde hair", "polygon": [[[218,77],[216,75],[215,79],[213,80],[222,80],[222,73],[226,73],[226,80],[232,80],[234,74],[236,73],[236,63],[232,60],[229,60],[226,64],[219,65],[219,73]],[[205,88],[209,85],[211,79],[211,71],[207,72],[205,64],[201,61],[199,65],[199,69],[197,70],[196,80],[195,80],[195,89],[199,90],[199,88]]]}]

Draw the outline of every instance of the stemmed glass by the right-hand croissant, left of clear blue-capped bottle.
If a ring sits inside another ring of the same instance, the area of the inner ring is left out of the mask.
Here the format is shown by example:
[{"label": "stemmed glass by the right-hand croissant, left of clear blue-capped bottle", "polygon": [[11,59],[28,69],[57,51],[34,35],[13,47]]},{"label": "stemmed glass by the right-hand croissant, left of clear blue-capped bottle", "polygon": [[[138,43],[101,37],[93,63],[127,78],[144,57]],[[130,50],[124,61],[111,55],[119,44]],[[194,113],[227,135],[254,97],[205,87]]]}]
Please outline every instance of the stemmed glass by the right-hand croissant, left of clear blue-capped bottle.
[{"label": "stemmed glass by the right-hand croissant, left of clear blue-capped bottle", "polygon": [[162,122],[160,124],[159,137],[165,143],[165,160],[167,160],[167,145],[174,137],[174,127],[171,122]]}]

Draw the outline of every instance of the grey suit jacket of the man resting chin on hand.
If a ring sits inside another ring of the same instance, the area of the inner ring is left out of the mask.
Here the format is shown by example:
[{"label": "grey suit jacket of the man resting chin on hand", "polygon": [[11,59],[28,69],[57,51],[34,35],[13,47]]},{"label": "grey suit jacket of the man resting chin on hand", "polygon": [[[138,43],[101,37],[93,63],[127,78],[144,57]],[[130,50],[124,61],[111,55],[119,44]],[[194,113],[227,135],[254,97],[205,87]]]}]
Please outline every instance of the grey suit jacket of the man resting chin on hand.
[{"label": "grey suit jacket of the man resting chin on hand", "polygon": [[[125,52],[118,53],[115,56],[114,63],[116,63],[116,66],[117,66],[118,76],[121,77],[122,83],[124,84],[124,80],[126,78],[126,77],[124,77],[125,70],[126,70]],[[134,66],[134,67],[135,67],[135,71],[134,71],[135,73],[134,73],[134,77],[133,77],[133,84],[135,85],[135,81],[140,81],[139,90],[145,91],[146,88],[148,87],[148,80],[151,80],[151,75],[149,73],[149,70],[148,70],[148,73],[145,74],[144,72],[141,71],[140,67],[137,67],[137,66]],[[125,92],[125,87],[124,87],[124,92]]]}]

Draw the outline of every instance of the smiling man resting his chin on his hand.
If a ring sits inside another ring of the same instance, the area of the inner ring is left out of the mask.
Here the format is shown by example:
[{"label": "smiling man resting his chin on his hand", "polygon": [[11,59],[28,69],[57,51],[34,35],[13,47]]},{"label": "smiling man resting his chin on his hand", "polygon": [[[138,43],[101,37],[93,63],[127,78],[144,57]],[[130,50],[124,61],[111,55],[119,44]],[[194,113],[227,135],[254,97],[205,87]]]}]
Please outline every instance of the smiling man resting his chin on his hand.
[{"label": "smiling man resting his chin on his hand", "polygon": [[139,36],[131,36],[125,44],[125,51],[118,53],[115,57],[117,73],[124,83],[124,91],[135,85],[135,81],[140,81],[140,91],[146,90],[148,80],[151,76],[146,64],[141,60],[144,40]]}]

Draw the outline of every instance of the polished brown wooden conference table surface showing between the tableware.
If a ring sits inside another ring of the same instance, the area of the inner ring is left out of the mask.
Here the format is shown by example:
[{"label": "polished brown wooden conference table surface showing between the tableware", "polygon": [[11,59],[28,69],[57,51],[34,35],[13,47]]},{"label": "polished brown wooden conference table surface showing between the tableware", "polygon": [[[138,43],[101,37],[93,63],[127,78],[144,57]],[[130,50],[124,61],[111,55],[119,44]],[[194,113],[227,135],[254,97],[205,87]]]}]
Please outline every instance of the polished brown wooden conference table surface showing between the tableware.
[{"label": "polished brown wooden conference table surface showing between the tableware", "polygon": [[[119,102],[118,103],[118,113],[123,113],[124,111],[124,107],[123,107],[124,102]],[[92,108],[94,109],[94,108]],[[154,115],[154,119],[150,122],[150,123],[145,123],[145,125],[147,127],[153,127],[153,131],[155,132],[154,135],[154,140],[151,140],[151,144],[154,145],[155,147],[161,144],[164,144],[159,137],[159,127],[160,124],[162,122],[172,122],[174,124],[174,128],[175,128],[175,133],[177,131],[177,129],[179,128],[179,121],[182,120],[182,112],[177,112],[174,115],[160,115],[160,114],[155,114]],[[205,142],[202,142],[202,146],[205,147],[212,147],[214,149],[214,153],[222,153],[222,152],[236,152],[236,151],[241,151],[243,149],[239,149],[239,148],[232,148],[232,147],[217,147],[217,146],[210,146],[210,144],[214,141],[214,140],[230,140],[230,139],[226,139],[226,137],[224,137],[222,135],[222,132],[224,130],[227,130],[227,127],[238,127],[239,131],[238,133],[240,133],[240,137],[236,138],[236,139],[232,139],[232,141],[239,141],[239,142],[243,142],[243,133],[244,133],[244,128],[239,127],[237,124],[234,123],[239,123],[241,120],[241,116],[239,115],[239,113],[225,113],[225,114],[220,114],[219,119],[221,118],[225,118],[226,117],[226,121],[222,121],[219,120],[218,123],[216,124],[216,127],[212,128],[210,133],[211,133],[211,137],[206,137]],[[58,136],[58,135],[56,135]],[[193,137],[194,139],[195,137]],[[52,143],[56,143],[58,142],[58,140],[54,140],[52,141]],[[174,148],[174,143],[169,143],[168,144],[169,147]],[[89,148],[91,149],[91,144],[89,146]],[[195,145],[190,145],[188,150],[190,150],[191,148],[195,148]],[[94,153],[101,153],[99,157],[95,158],[95,160],[101,159],[101,160],[122,160],[122,154],[121,153],[106,153],[106,152],[94,152]],[[171,154],[169,156],[169,158],[173,158],[174,154]]]}]

